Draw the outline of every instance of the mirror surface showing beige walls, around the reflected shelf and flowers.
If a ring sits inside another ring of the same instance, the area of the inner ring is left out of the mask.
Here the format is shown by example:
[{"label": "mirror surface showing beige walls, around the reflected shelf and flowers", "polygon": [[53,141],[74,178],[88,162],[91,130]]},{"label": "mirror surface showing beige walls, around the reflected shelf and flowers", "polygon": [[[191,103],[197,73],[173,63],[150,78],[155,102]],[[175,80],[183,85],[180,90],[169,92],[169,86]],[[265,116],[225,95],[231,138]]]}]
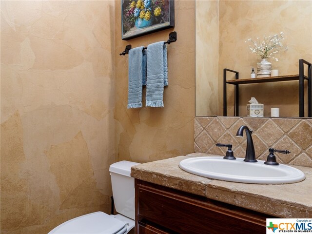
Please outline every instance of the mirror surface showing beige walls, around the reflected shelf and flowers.
[{"label": "mirror surface showing beige walls, around the reflected shelf and flowers", "polygon": [[[299,74],[299,59],[312,62],[311,0],[196,1],[195,14],[196,116],[223,116],[224,68],[238,71],[240,79],[251,78],[252,68],[256,72],[261,58],[251,53],[250,38],[284,32],[283,44],[288,50],[276,54],[279,61],[268,59],[279,76]],[[228,74],[227,79],[234,75]],[[304,87],[308,116],[307,81]],[[246,104],[255,97],[264,104],[265,117],[271,116],[271,108],[279,108],[280,117],[298,117],[298,90],[298,81],[240,85],[239,114],[246,117]],[[227,103],[227,116],[234,116],[234,85],[227,85]]]}]

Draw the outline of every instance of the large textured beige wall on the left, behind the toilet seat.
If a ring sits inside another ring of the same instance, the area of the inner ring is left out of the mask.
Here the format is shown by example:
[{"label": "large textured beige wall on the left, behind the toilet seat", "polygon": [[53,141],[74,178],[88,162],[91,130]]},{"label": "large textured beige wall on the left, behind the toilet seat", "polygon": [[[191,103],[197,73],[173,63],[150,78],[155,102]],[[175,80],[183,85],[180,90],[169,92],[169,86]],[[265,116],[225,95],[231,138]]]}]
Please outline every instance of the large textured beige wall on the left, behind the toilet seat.
[{"label": "large textured beige wall on the left, behind the toilet seat", "polygon": [[1,234],[110,211],[114,1],[1,1]]}]

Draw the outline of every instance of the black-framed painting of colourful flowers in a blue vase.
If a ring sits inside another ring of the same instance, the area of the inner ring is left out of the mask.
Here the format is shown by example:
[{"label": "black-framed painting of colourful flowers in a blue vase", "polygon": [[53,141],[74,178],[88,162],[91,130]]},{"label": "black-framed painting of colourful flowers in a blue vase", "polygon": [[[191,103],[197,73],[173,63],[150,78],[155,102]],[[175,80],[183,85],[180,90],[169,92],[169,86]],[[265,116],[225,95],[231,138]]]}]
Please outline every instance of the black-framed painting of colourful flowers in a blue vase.
[{"label": "black-framed painting of colourful flowers in a blue vase", "polygon": [[121,0],[122,39],[175,26],[174,0]]}]

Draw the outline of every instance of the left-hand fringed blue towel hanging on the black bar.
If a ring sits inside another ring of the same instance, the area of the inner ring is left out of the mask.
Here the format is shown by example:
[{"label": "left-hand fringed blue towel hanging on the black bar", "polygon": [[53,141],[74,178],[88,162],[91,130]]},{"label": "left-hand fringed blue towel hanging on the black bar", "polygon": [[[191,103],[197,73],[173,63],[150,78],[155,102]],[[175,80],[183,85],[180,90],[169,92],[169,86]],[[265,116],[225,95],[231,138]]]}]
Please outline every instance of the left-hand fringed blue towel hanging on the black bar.
[{"label": "left-hand fringed blue towel hanging on the black bar", "polygon": [[128,106],[142,107],[142,85],[146,84],[146,52],[143,46],[129,50]]}]

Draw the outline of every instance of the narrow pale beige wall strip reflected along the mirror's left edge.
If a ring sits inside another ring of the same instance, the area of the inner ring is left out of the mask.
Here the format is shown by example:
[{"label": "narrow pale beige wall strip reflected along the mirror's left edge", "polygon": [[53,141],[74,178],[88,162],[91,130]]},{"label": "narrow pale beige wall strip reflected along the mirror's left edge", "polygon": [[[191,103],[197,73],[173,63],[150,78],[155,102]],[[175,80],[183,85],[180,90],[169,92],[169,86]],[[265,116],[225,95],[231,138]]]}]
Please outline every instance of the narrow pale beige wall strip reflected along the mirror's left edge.
[{"label": "narrow pale beige wall strip reflected along the mirror's left edge", "polygon": [[218,113],[218,1],[196,1],[196,116]]}]

